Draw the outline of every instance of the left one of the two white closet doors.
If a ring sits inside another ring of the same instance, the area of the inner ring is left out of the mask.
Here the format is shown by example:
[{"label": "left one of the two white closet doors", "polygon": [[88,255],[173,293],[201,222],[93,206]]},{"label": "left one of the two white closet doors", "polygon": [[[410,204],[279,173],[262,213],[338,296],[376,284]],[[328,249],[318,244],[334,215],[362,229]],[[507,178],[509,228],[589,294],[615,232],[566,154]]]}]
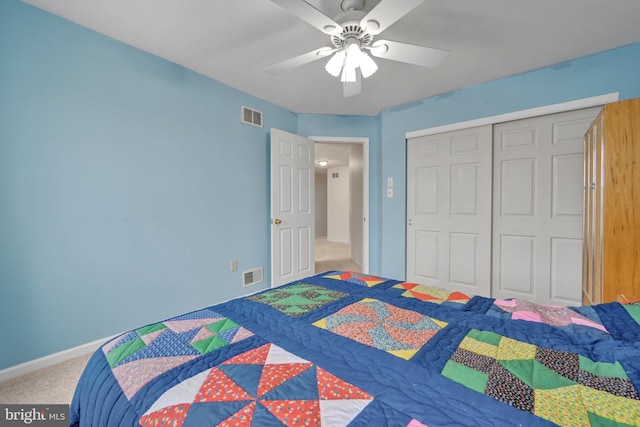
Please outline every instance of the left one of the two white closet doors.
[{"label": "left one of the two white closet doors", "polygon": [[491,125],[407,144],[407,281],[489,296]]}]

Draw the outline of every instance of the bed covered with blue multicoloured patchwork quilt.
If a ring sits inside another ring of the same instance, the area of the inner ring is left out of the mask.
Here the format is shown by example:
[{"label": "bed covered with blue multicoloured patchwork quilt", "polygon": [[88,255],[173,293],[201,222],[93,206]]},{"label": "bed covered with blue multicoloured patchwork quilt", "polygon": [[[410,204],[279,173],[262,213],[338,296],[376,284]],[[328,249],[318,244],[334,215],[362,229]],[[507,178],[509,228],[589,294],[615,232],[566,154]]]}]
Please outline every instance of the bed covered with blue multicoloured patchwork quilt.
[{"label": "bed covered with blue multicoloured patchwork quilt", "polygon": [[72,426],[640,425],[640,305],[328,271],[126,332]]}]

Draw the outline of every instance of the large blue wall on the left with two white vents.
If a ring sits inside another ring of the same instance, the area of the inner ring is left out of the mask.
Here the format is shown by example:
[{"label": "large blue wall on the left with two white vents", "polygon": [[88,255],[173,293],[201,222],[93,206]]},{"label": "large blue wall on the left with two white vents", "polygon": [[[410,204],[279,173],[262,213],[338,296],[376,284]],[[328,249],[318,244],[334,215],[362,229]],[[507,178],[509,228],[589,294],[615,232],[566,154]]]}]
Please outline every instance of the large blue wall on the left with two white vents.
[{"label": "large blue wall on the left with two white vents", "polygon": [[0,58],[0,369],[268,285],[294,113],[17,0]]}]

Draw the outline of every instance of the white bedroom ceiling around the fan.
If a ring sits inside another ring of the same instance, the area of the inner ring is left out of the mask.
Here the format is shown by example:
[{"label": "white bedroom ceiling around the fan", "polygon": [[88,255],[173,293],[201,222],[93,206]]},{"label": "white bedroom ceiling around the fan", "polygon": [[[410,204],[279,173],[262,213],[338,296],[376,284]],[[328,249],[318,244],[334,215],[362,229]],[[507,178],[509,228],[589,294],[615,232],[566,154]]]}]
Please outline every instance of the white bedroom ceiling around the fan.
[{"label": "white bedroom ceiling around the fan", "polygon": [[[264,67],[329,38],[269,0],[24,0],[297,113],[381,109],[640,41],[638,0],[425,0],[381,34],[447,49],[437,69],[376,59],[344,98],[326,59],[272,76]],[[370,10],[380,0],[367,0]],[[397,0],[385,0],[397,1]],[[308,0],[335,17],[339,0]]]}]

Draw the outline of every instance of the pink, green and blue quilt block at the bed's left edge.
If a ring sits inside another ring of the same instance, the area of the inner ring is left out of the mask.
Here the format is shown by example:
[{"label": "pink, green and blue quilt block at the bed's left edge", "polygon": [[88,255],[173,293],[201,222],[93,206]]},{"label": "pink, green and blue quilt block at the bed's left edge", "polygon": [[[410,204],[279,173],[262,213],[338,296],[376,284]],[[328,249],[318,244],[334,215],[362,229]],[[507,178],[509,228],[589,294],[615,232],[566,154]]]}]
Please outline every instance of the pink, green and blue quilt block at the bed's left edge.
[{"label": "pink, green and blue quilt block at the bed's left edge", "polygon": [[157,376],[253,333],[209,309],[127,332],[102,347],[128,399]]}]

